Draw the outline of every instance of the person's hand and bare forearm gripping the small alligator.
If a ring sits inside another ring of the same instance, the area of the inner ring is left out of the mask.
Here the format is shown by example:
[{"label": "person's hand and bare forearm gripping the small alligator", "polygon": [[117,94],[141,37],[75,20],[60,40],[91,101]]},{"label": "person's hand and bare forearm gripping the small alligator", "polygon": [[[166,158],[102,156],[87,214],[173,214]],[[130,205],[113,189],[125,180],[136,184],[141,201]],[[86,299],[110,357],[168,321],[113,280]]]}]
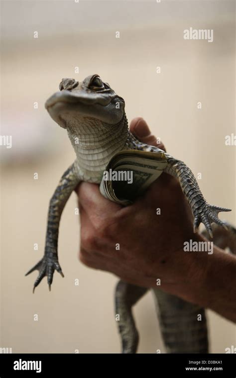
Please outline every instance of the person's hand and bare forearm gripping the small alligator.
[{"label": "person's hand and bare forearm gripping the small alligator", "polygon": [[[140,118],[131,123],[137,130],[141,141],[155,143]],[[84,264],[145,287],[160,279],[163,290],[236,321],[236,257],[216,246],[211,255],[183,250],[184,242],[205,239],[193,233],[192,213],[175,178],[162,174],[127,207],[104,198],[97,185],[82,183],[77,193]]]}]

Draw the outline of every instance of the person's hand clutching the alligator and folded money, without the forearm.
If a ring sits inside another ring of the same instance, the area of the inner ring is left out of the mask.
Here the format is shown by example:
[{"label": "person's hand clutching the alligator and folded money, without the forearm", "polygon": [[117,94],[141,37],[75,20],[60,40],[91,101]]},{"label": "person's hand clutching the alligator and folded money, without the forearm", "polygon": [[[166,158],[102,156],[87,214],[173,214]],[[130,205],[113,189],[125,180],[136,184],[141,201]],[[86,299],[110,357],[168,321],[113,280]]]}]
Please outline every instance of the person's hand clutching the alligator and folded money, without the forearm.
[{"label": "person's hand clutching the alligator and folded money, without the forearm", "polygon": [[[156,146],[146,122],[132,120],[130,131]],[[164,149],[162,144],[159,148]],[[90,268],[114,273],[141,286],[178,291],[196,273],[195,258],[183,251],[186,240],[198,240],[193,217],[178,181],[163,173],[127,207],[104,198],[99,186],[82,183],[77,193],[81,215],[80,260]],[[161,214],[156,214],[160,208]],[[119,244],[119,250],[116,246]]]}]

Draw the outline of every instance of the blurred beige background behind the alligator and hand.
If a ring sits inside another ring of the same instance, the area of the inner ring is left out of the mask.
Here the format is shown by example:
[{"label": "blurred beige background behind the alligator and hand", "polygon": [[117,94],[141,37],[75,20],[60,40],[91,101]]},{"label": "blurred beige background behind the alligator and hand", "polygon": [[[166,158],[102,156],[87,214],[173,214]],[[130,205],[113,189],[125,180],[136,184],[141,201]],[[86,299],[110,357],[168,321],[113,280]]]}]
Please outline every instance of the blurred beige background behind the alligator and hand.
[{"label": "blurred beige background behind the alligator and hand", "polygon": [[[65,130],[44,109],[61,78],[98,73],[108,81],[124,97],[129,121],[143,116],[173,156],[202,173],[206,199],[232,208],[222,217],[236,223],[236,147],[225,146],[225,136],[236,134],[234,8],[234,1],[1,1],[1,135],[12,135],[12,148],[0,147],[0,347],[13,353],[120,350],[117,278],[79,263],[75,194],[60,227],[65,278],[55,273],[52,291],[44,279],[33,295],[36,273],[24,277],[42,257],[48,201],[75,157]],[[189,27],[214,29],[214,41],[184,40]],[[138,352],[165,353],[151,293],[134,312]],[[236,328],[211,311],[208,317],[211,352],[225,353],[236,343]]]}]

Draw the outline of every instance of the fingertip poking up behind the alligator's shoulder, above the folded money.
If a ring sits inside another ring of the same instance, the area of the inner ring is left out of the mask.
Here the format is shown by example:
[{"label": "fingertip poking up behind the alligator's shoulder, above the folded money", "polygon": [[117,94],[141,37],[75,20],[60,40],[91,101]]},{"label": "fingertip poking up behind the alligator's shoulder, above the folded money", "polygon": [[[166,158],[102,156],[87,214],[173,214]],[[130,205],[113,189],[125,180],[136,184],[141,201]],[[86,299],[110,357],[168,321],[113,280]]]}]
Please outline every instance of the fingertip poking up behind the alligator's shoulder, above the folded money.
[{"label": "fingertip poking up behind the alligator's shoulder, above the folded money", "polygon": [[134,118],[131,121],[129,128],[131,133],[136,135],[141,142],[149,144],[151,146],[156,146],[165,151],[164,144],[160,141],[159,138],[157,139],[155,135],[151,133],[146,121],[144,121],[142,117]]}]

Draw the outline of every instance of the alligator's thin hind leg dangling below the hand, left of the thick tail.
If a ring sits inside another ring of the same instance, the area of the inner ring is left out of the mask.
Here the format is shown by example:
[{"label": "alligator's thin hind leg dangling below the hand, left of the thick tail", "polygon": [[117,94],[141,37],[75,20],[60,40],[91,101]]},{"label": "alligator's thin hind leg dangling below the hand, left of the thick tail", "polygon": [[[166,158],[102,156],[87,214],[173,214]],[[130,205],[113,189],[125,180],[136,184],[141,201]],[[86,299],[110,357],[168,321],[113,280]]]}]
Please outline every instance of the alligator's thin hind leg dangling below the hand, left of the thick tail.
[{"label": "alligator's thin hind leg dangling below the hand, left of the thick tail", "polygon": [[147,288],[119,281],[116,287],[116,315],[119,315],[118,330],[122,342],[122,353],[136,353],[138,332],[132,306],[147,292]]}]

